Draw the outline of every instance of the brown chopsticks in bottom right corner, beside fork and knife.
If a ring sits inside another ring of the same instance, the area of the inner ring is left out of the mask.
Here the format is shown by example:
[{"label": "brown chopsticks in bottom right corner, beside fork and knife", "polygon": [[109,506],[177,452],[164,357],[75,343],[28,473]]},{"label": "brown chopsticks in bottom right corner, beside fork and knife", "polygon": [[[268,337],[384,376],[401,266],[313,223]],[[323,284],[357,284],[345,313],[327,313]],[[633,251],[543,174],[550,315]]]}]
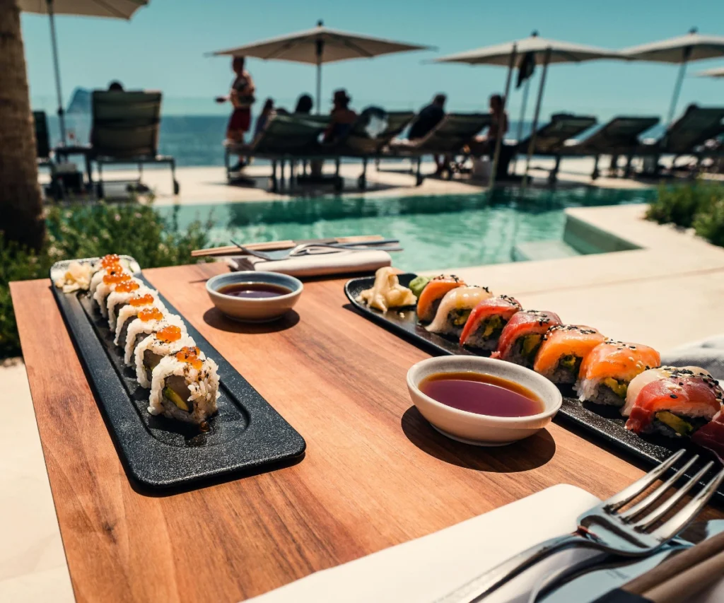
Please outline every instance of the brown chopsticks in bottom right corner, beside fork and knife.
[{"label": "brown chopsticks in bottom right corner, beside fork and knife", "polygon": [[671,557],[594,603],[682,603],[724,575],[724,533]]}]

